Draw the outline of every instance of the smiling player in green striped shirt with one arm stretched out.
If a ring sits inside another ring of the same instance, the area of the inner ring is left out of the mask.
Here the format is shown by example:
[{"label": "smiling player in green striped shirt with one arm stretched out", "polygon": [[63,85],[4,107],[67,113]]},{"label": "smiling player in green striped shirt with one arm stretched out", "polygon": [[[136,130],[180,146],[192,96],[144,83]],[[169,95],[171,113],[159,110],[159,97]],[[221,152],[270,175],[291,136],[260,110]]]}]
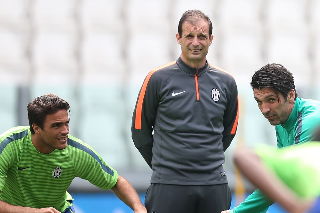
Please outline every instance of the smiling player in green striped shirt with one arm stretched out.
[{"label": "smiling player in green striped shirt with one arm stretched out", "polygon": [[69,107],[53,94],[37,97],[27,106],[30,126],[0,135],[0,212],[74,213],[67,189],[79,177],[111,189],[135,213],[146,213],[127,180],[69,135]]}]

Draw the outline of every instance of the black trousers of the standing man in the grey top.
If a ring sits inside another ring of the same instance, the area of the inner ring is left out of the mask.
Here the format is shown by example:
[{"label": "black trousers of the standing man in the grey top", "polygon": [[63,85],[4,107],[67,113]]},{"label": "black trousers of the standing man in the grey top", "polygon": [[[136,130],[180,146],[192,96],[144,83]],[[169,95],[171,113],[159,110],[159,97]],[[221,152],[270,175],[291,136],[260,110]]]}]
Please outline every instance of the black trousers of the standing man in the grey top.
[{"label": "black trousers of the standing man in the grey top", "polygon": [[220,213],[231,205],[228,184],[185,186],[151,184],[145,206],[148,213]]}]

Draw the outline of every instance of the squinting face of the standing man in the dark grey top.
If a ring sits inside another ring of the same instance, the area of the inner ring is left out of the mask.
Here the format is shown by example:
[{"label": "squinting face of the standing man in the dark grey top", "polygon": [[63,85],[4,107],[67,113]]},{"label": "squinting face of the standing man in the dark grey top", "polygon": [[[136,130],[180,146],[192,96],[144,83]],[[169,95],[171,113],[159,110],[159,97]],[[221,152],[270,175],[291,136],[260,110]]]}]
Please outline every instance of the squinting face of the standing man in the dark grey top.
[{"label": "squinting face of the standing man in the dark grey top", "polygon": [[191,67],[203,67],[213,35],[209,36],[209,23],[204,19],[186,20],[182,24],[181,37],[176,34],[181,45],[181,59]]}]

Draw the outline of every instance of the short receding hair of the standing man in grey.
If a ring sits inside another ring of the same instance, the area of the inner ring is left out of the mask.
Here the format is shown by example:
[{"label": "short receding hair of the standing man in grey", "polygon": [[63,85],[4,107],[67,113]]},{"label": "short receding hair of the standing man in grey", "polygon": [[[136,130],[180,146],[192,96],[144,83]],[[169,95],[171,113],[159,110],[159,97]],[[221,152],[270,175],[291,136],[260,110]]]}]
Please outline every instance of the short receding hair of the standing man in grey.
[{"label": "short receding hair of the standing man in grey", "polygon": [[182,36],[182,24],[185,21],[190,21],[191,23],[195,23],[199,19],[204,19],[208,22],[208,24],[209,24],[209,37],[210,37],[212,35],[212,22],[209,19],[209,17],[207,15],[205,15],[200,10],[188,10],[183,13],[183,15],[179,21],[179,24],[178,24],[179,36],[180,37]]}]

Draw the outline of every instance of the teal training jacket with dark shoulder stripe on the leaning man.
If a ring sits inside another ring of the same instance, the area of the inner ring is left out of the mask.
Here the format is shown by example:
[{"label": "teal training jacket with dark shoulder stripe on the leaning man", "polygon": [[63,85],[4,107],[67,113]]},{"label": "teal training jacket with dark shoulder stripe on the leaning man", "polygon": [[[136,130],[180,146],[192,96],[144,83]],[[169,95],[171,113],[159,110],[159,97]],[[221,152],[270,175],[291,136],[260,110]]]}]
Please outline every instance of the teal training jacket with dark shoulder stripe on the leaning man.
[{"label": "teal training jacket with dark shoulder stripe on the leaning man", "polygon": [[[320,102],[297,97],[288,120],[276,126],[278,148],[312,141],[315,128],[319,125]],[[273,202],[257,189],[230,213],[265,213],[272,204]]]}]

